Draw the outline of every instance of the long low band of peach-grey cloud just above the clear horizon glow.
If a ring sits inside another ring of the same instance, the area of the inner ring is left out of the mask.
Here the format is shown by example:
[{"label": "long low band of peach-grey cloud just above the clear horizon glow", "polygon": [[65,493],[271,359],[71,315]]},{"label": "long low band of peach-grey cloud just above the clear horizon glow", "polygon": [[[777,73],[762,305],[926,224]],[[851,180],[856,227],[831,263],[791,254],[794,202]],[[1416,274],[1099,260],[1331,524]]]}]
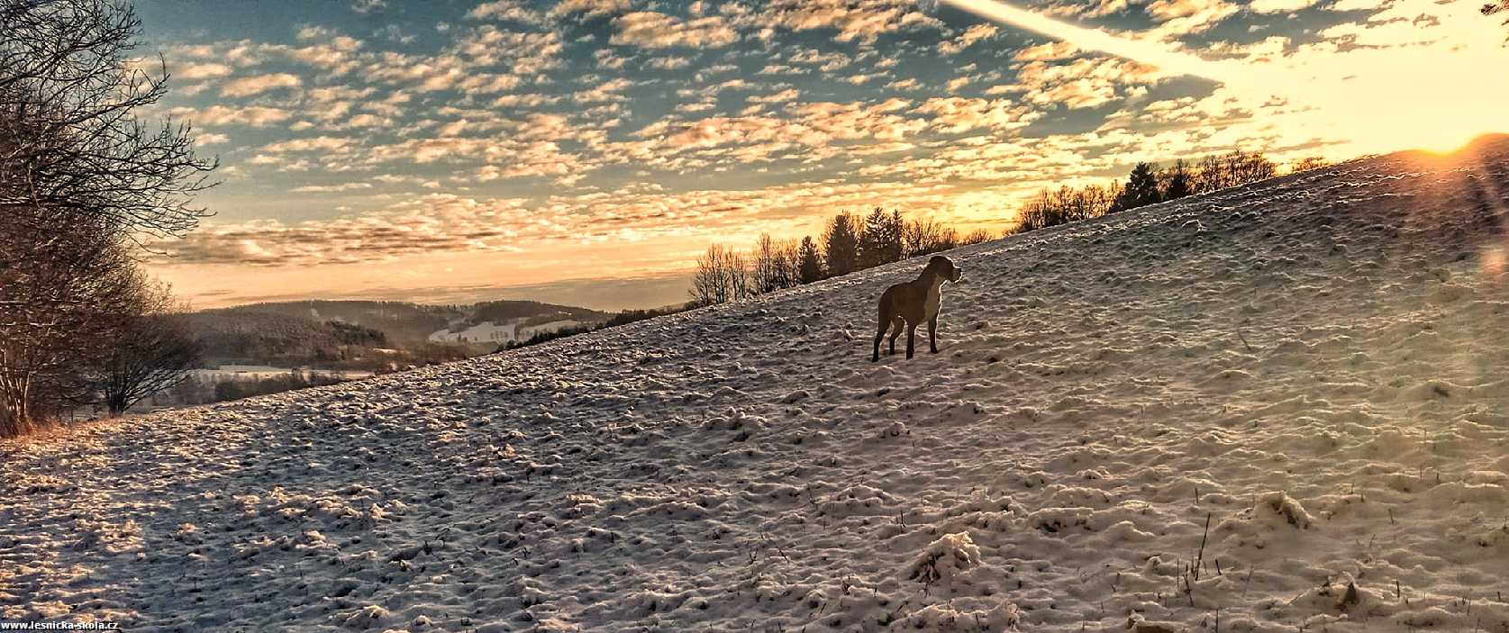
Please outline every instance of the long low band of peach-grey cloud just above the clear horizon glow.
[{"label": "long low band of peach-grey cloud just above the clear horizon glow", "polygon": [[[430,193],[333,220],[205,225],[157,247],[169,253],[158,264],[278,268],[379,264],[445,253],[528,256],[528,250],[551,243],[582,253],[595,249],[589,244],[599,244],[650,253],[653,261],[644,264],[664,270],[690,258],[691,253],[681,250],[688,240],[694,244],[691,250],[715,238],[753,240],[759,232],[791,231],[794,222],[810,222],[834,209],[868,209],[877,199],[904,211],[936,214],[954,196],[910,182],[828,181],[675,193],[641,184],[539,202]],[[638,243],[659,247],[635,247]]]}]

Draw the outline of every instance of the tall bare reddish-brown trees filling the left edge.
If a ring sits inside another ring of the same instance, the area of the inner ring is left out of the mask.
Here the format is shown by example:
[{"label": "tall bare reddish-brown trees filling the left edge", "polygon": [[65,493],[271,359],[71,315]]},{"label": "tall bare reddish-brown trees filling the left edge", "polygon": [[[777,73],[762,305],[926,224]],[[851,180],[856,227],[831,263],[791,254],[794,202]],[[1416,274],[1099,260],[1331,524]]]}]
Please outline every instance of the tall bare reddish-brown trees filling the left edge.
[{"label": "tall bare reddish-brown trees filling the left edge", "polygon": [[140,69],[115,0],[0,0],[0,434],[91,395],[142,306],[133,243],[181,235],[214,161],[187,127],[137,118],[167,72]]}]

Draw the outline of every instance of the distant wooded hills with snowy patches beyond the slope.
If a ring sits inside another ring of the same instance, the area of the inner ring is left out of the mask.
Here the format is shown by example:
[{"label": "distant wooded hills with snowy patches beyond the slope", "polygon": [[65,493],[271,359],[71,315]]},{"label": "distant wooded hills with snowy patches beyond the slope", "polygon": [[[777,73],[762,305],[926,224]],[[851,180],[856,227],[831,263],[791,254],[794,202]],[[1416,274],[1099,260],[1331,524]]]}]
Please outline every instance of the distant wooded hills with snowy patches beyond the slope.
[{"label": "distant wooded hills with snowy patches beyond the slope", "polygon": [[278,301],[190,315],[210,363],[383,369],[496,350],[613,315],[540,301]]}]

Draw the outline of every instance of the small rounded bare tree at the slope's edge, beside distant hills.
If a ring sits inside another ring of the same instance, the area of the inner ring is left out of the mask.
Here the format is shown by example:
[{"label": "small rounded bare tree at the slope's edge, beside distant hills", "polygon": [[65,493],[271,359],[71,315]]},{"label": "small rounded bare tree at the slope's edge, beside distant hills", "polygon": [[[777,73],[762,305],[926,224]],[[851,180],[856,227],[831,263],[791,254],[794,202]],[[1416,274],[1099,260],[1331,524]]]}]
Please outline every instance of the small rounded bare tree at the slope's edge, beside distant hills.
[{"label": "small rounded bare tree at the slope's edge, beside distant hills", "polygon": [[142,292],[139,313],[124,327],[101,366],[101,392],[112,416],[169,390],[199,363],[199,344],[166,286]]}]

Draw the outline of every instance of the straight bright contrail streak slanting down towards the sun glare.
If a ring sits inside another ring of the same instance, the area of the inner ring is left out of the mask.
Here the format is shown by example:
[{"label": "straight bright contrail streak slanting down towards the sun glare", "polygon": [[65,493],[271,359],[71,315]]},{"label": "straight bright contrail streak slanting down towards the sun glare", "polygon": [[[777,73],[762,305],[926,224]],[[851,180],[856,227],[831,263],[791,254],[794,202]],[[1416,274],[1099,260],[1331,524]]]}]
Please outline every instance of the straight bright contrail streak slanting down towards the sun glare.
[{"label": "straight bright contrail streak slanting down towards the sun glare", "polygon": [[1159,44],[1142,42],[1129,38],[1118,38],[1111,33],[1085,29],[1065,21],[1038,15],[1026,9],[996,0],[939,0],[945,5],[964,9],[970,14],[993,20],[1002,24],[1043,33],[1053,39],[1062,39],[1079,48],[1114,54],[1117,57],[1154,65],[1166,72],[1204,77],[1215,81],[1228,81],[1230,69],[1207,62],[1188,53],[1176,53]]}]

